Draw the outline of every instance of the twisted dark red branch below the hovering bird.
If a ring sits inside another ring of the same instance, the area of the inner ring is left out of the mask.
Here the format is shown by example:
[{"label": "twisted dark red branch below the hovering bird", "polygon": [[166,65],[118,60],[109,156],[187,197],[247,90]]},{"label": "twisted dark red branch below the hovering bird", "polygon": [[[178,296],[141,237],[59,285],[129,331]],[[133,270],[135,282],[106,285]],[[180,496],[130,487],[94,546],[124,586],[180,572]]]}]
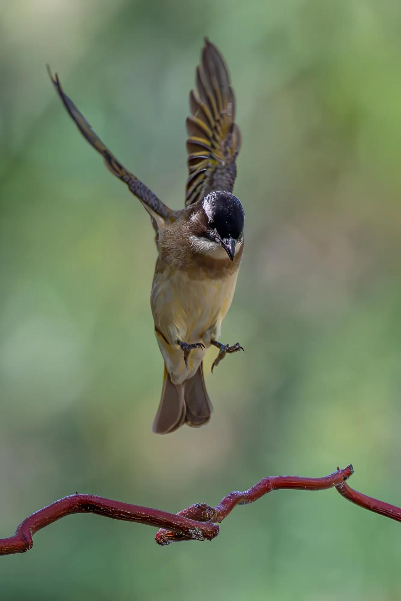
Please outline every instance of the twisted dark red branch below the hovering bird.
[{"label": "twisted dark red branch below the hovering bird", "polygon": [[341,495],[357,505],[401,521],[401,509],[371,499],[347,486],[345,480],[353,472],[352,465],[349,465],[344,469],[337,469],[334,474],[324,478],[299,478],[298,476],[263,478],[245,492],[229,493],[215,508],[197,503],[177,514],[110,501],[94,495],[66,496],[26,517],[18,526],[14,536],[0,539],[0,555],[28,551],[32,548],[32,536],[35,532],[72,513],[96,513],[100,516],[147,524],[156,528],[162,526],[163,529],[159,529],[156,534],[156,542],[159,545],[169,545],[182,540],[212,540],[219,534],[219,526],[213,522],[222,522],[236,505],[257,501],[261,496],[278,489],[325,490],[335,486]]}]

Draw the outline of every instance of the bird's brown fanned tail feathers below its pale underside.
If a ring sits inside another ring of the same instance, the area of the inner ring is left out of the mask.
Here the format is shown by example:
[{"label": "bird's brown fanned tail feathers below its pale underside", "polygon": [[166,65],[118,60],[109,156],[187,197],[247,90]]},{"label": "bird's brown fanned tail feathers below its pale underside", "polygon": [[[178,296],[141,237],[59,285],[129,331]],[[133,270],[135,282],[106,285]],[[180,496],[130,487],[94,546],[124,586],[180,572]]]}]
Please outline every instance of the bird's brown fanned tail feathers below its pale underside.
[{"label": "bird's brown fanned tail feathers below its pale underside", "polygon": [[174,432],[183,423],[191,427],[207,424],[213,407],[207,395],[203,379],[203,365],[182,384],[173,384],[170,374],[164,368],[162,397],[159,403],[153,432],[168,434]]}]

